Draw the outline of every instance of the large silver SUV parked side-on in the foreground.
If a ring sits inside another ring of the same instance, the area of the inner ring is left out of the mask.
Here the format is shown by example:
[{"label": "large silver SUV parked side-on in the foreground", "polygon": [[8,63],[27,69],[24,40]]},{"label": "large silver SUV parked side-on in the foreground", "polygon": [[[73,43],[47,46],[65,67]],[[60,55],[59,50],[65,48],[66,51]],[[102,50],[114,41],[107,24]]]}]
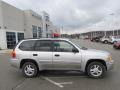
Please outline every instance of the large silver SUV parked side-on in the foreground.
[{"label": "large silver SUV parked side-on in the foreground", "polygon": [[113,66],[110,53],[81,48],[67,39],[22,40],[12,52],[11,65],[25,77],[41,70],[79,70],[92,78],[103,77]]}]

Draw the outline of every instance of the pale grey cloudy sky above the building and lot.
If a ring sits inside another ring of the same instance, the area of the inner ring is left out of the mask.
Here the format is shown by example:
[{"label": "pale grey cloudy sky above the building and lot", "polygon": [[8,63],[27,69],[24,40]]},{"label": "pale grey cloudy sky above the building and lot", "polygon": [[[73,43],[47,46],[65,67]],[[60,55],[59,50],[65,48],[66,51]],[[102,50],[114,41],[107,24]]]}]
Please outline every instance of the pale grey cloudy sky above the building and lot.
[{"label": "pale grey cloudy sky above the building and lot", "polygon": [[46,11],[64,33],[120,28],[120,0],[3,0],[22,10]]}]

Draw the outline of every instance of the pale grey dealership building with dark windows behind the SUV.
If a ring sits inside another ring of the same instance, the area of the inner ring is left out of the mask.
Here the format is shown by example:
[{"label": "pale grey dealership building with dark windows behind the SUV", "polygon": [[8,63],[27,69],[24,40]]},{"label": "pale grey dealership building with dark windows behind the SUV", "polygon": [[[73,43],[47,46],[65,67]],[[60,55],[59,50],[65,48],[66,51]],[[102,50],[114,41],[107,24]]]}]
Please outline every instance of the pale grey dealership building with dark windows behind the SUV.
[{"label": "pale grey dealership building with dark windows behind the SUV", "polygon": [[0,48],[11,49],[24,38],[53,37],[60,33],[50,21],[49,14],[21,10],[0,1]]}]

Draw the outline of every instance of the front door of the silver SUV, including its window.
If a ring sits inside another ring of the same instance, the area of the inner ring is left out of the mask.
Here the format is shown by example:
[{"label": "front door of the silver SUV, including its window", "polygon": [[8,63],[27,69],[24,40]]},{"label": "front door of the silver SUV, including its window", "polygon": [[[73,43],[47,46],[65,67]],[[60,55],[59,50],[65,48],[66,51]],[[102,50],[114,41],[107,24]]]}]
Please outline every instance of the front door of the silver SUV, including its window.
[{"label": "front door of the silver SUV, including its window", "polygon": [[[73,52],[73,51],[77,52]],[[53,67],[61,70],[80,70],[81,52],[70,42],[53,42]]]}]

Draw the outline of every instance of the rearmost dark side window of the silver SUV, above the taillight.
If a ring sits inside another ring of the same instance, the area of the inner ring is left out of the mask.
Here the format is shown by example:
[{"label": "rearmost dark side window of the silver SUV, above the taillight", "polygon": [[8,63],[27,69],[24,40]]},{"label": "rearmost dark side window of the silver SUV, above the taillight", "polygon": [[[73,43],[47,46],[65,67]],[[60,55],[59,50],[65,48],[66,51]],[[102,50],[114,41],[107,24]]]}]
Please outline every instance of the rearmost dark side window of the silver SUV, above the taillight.
[{"label": "rearmost dark side window of the silver SUV, above the taillight", "polygon": [[23,51],[34,51],[35,40],[24,41],[20,44],[19,49]]}]

